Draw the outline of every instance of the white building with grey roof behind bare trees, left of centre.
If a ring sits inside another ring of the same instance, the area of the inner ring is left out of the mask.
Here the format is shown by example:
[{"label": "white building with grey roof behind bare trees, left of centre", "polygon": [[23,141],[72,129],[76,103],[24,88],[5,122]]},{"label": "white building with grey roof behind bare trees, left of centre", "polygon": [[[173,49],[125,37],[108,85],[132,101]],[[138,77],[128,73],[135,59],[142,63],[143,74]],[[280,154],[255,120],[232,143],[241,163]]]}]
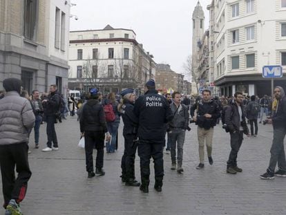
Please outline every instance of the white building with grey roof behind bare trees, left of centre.
[{"label": "white building with grey roof behind bare trees, left of centre", "polygon": [[119,93],[124,88],[144,91],[155,77],[153,55],[136,41],[133,30],[106,26],[102,30],[70,32],[68,88]]}]

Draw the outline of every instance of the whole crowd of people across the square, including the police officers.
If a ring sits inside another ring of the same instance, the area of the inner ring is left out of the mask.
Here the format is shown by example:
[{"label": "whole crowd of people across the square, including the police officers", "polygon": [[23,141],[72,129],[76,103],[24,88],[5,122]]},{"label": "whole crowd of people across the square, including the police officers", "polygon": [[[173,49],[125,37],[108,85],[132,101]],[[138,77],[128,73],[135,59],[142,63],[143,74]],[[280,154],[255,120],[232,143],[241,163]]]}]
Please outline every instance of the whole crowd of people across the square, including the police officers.
[{"label": "whole crowd of people across the square, including the police officers", "polygon": [[[104,176],[104,147],[106,153],[117,149],[120,118],[124,123],[124,153],[121,160],[121,180],[126,186],[140,187],[149,192],[150,161],[153,158],[155,185],[162,191],[164,178],[163,152],[171,153],[171,169],[178,174],[184,172],[184,140],[189,123],[197,125],[199,163],[196,169],[204,168],[204,145],[207,148],[209,165],[213,165],[213,127],[220,124],[230,135],[227,174],[242,171],[238,167],[238,152],[243,135],[258,135],[260,123],[273,124],[274,138],[271,158],[262,179],[274,176],[286,177],[284,138],[286,134],[286,97],[283,88],[276,86],[273,97],[258,99],[236,92],[233,97],[212,97],[205,89],[196,99],[175,91],[160,95],[155,90],[155,81],[145,84],[144,95],[136,97],[134,89],[102,96],[97,88],[91,88],[86,99],[67,100],[57,92],[55,84],[50,85],[49,93],[32,91],[30,97],[21,90],[21,80],[8,78],[3,81],[6,93],[0,97],[0,166],[6,214],[22,214],[19,203],[26,195],[28,180],[31,176],[28,165],[28,142],[30,132],[35,131],[35,148],[39,149],[39,127],[46,122],[47,143],[44,152],[59,150],[55,123],[61,122],[70,113],[77,113],[80,133],[84,138],[86,171],[88,178]],[[4,95],[5,94],[5,95]],[[264,118],[265,115],[265,118]],[[250,131],[247,124],[250,124]],[[97,149],[95,168],[93,149]],[[135,178],[135,154],[140,157],[141,180]],[[18,176],[15,177],[15,166]],[[276,170],[276,166],[278,169]]]}]

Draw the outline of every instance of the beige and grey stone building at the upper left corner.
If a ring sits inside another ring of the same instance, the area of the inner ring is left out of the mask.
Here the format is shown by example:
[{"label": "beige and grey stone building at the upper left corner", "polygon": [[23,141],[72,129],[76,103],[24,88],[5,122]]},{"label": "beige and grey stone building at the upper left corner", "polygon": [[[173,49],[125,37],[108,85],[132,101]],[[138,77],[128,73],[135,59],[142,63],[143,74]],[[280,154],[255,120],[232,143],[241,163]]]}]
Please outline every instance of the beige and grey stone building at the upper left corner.
[{"label": "beige and grey stone building at the upper left corner", "polygon": [[50,84],[66,93],[69,19],[70,1],[0,0],[0,82],[17,77],[29,93]]}]

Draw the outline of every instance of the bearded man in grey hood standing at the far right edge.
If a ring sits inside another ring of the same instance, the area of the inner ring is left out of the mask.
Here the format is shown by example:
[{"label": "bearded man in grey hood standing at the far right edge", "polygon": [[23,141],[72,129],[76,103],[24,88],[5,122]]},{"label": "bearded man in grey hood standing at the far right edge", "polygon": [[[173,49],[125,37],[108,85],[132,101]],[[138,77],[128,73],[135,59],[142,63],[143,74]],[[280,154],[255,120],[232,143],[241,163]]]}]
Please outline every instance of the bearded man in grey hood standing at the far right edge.
[{"label": "bearded man in grey hood standing at the far right edge", "polygon": [[[274,176],[286,177],[286,161],[284,150],[284,138],[286,134],[286,97],[281,86],[274,88],[274,95],[277,100],[276,109],[271,118],[266,122],[273,125],[273,140],[270,149],[269,166],[261,179],[274,179]],[[278,171],[275,171],[278,165]]]}]

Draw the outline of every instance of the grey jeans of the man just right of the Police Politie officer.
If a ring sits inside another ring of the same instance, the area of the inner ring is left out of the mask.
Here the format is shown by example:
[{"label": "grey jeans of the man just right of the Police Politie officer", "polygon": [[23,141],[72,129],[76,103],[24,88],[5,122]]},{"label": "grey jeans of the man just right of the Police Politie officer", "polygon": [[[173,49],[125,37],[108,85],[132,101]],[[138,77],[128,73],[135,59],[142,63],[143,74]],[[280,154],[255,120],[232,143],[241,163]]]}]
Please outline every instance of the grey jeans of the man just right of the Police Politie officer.
[{"label": "grey jeans of the man just right of the Police Politie officer", "polygon": [[[175,164],[175,148],[177,147],[178,155],[178,167],[182,167],[182,157],[183,157],[183,146],[184,146],[184,136],[186,131],[182,129],[173,129],[171,133],[169,132],[171,138],[171,160],[172,163]],[[177,145],[177,146],[176,146]]]}]

